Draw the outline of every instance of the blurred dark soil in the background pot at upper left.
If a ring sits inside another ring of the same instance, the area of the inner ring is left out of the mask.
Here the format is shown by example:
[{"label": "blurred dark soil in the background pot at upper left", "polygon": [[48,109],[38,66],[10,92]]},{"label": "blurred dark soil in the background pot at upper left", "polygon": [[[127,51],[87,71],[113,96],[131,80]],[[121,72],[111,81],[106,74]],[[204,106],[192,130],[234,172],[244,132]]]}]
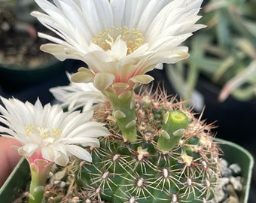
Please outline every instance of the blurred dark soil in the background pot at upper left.
[{"label": "blurred dark soil in the background pot at upper left", "polygon": [[35,68],[53,58],[40,50],[47,40],[37,33],[50,33],[35,19],[18,21],[11,9],[0,8],[0,64],[11,68]]}]

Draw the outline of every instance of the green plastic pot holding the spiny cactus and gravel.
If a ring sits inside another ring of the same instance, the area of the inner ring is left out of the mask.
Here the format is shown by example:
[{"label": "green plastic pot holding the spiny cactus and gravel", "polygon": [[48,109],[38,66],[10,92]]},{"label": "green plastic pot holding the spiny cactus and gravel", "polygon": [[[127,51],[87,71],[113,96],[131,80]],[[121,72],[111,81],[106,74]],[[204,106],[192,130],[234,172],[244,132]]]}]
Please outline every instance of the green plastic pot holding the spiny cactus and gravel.
[{"label": "green plastic pot holding the spiny cactus and gravel", "polygon": [[[239,202],[247,203],[254,159],[247,150],[237,144],[218,138],[216,138],[216,141],[221,143],[221,148],[224,151],[224,159],[229,163],[237,163],[242,168],[244,186]],[[21,159],[0,189],[0,202],[13,202],[21,192],[26,191],[29,178],[29,165],[26,159]]]}]

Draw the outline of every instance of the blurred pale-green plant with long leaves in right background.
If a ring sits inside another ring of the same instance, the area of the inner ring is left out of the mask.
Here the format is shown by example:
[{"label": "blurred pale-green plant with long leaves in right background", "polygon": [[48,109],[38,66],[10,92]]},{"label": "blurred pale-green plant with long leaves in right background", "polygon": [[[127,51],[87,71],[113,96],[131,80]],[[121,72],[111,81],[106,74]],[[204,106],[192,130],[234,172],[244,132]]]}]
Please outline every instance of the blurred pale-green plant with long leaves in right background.
[{"label": "blurred pale-green plant with long leaves in right background", "polygon": [[[209,0],[201,10],[207,26],[186,41],[190,57],[166,68],[173,89],[192,100],[199,77],[221,87],[220,102],[256,95],[256,1]],[[192,98],[192,99],[191,99]]]}]

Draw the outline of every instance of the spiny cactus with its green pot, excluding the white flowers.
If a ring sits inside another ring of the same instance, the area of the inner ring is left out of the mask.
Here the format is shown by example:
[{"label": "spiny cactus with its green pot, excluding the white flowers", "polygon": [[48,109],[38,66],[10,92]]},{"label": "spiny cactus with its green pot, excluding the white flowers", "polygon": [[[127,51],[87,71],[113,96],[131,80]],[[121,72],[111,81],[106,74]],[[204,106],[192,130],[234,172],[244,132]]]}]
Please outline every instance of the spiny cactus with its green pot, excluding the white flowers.
[{"label": "spiny cactus with its green pot, excluding the white flowers", "polygon": [[[96,109],[94,120],[106,123],[110,135],[99,139],[100,147],[87,149],[93,162],[72,159],[65,168],[55,168],[47,177],[43,202],[202,202],[219,195],[221,159],[241,166],[243,186],[237,196],[248,202],[251,154],[214,138],[212,126],[181,102],[164,94],[136,95],[134,143],[123,141],[108,102]],[[29,165],[22,159],[0,190],[0,200],[26,202],[29,179]]]}]

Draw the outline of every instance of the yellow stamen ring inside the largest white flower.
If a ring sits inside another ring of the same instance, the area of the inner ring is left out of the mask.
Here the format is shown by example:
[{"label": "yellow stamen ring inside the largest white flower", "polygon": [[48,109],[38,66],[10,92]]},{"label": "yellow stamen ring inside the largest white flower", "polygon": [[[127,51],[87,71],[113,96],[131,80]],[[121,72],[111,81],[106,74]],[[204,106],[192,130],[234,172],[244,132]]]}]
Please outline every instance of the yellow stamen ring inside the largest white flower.
[{"label": "yellow stamen ring inside the largest white flower", "polygon": [[102,47],[103,50],[111,50],[111,45],[108,42],[114,42],[120,36],[120,39],[127,44],[127,55],[133,53],[144,43],[144,36],[139,29],[128,29],[127,26],[115,27],[106,29],[104,32],[99,32],[96,38],[93,38],[93,43]]}]

